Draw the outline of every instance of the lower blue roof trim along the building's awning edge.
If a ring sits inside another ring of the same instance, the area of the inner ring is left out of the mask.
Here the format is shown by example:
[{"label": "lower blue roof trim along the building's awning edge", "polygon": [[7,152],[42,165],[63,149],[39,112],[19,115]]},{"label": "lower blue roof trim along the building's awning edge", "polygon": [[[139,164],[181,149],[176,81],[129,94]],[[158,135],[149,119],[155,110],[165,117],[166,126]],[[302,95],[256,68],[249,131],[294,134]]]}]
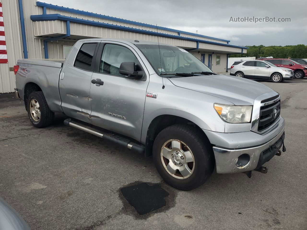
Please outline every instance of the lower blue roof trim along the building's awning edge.
[{"label": "lower blue roof trim along the building's awning edge", "polygon": [[231,45],[231,44],[201,40],[201,39],[196,39],[196,38],[182,37],[182,36],[172,35],[172,34],[167,34],[167,33],[157,33],[157,32],[153,32],[153,31],[145,30],[145,29],[136,29],[136,28],[131,28],[131,27],[127,27],[127,26],[103,23],[103,22],[99,22],[99,21],[90,21],[90,20],[85,20],[85,19],[76,18],[76,17],[63,16],[63,15],[60,15],[60,14],[31,15],[30,18],[31,18],[32,21],[54,21],[54,20],[70,21],[70,22],[86,24],[86,25],[93,25],[93,26],[106,27],[106,28],[111,28],[111,29],[125,30],[125,31],[134,32],[134,33],[143,33],[143,34],[149,34],[149,35],[154,35],[154,36],[159,35],[161,37],[170,37],[170,38],[176,38],[176,39],[181,39],[181,40],[196,41],[196,42],[202,42],[202,43],[207,43],[207,44],[214,44],[214,45],[228,46],[228,47],[234,47],[234,48],[248,49],[247,47],[244,47],[244,46],[237,46],[237,45]]}]

